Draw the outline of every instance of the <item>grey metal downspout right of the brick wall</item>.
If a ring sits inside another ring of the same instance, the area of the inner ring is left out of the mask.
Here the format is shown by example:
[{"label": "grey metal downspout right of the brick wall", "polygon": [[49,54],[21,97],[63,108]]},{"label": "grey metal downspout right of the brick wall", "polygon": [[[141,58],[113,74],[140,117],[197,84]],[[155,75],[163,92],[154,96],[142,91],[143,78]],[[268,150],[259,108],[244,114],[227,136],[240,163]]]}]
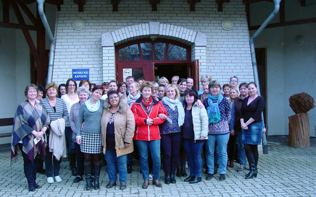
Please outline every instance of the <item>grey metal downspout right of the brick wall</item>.
[{"label": "grey metal downspout right of the brick wall", "polygon": [[[271,20],[279,12],[281,0],[273,0],[273,2],[274,2],[273,12],[268,16],[268,18],[263,22],[263,24],[259,27],[259,29],[250,38],[250,52],[251,52],[251,59],[252,59],[253,77],[255,79],[255,83],[258,86],[258,95],[259,96],[261,94],[260,94],[260,85],[259,85],[259,77],[258,77],[258,69],[257,69],[257,60],[256,60],[254,40],[258,37],[258,35],[263,31],[263,29],[271,22]],[[262,120],[264,120],[263,113],[262,113]],[[267,137],[265,134],[262,135],[262,147],[263,147],[263,154],[268,154]]]}]

